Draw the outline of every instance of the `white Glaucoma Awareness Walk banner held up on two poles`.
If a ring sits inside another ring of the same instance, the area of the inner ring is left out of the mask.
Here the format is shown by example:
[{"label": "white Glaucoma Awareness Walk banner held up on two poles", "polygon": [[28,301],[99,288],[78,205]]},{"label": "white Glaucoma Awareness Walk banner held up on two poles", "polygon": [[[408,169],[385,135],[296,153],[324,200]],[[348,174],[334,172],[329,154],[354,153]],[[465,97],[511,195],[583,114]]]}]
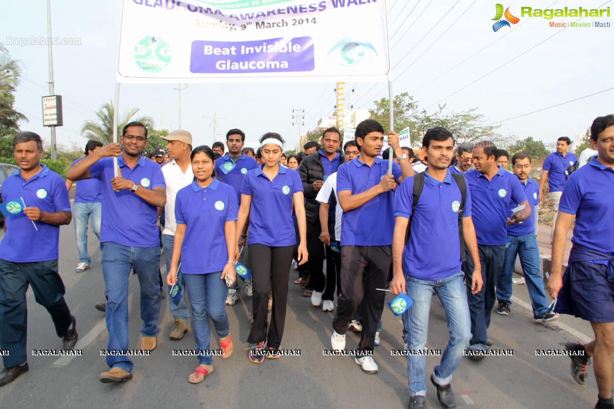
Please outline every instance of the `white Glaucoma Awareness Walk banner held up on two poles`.
[{"label": "white Glaucoma Awareness Walk banner held up on two poles", "polygon": [[117,82],[392,80],[384,0],[124,0]]}]

